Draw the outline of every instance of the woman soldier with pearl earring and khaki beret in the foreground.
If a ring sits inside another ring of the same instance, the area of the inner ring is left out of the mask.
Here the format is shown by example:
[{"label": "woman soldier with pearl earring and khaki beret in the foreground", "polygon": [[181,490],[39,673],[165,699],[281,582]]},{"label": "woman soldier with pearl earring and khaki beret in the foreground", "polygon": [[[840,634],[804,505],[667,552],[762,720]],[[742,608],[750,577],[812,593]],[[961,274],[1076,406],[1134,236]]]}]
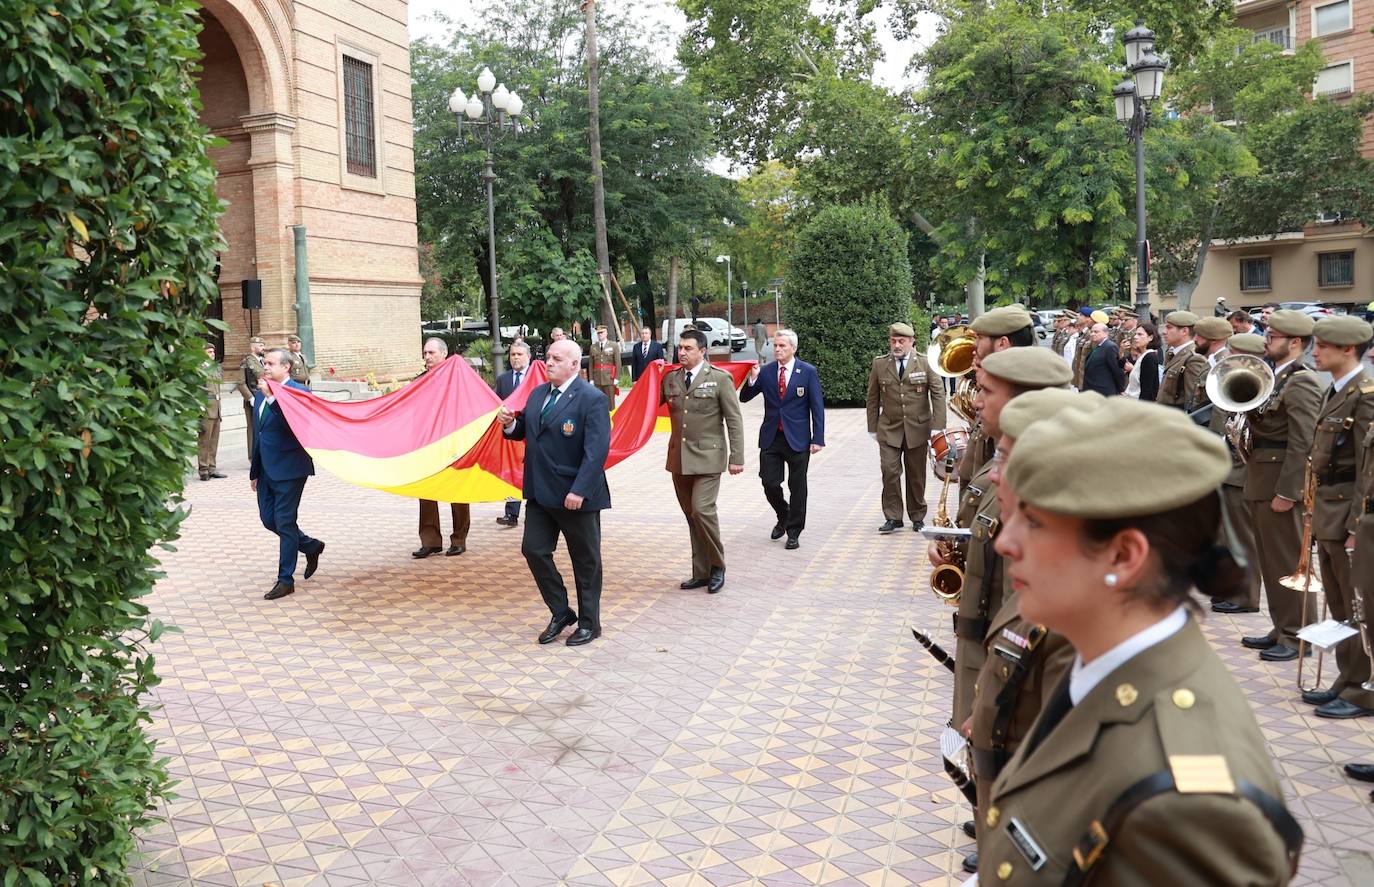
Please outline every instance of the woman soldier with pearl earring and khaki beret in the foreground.
[{"label": "woman soldier with pearl earring and khaki beret in the foreground", "polygon": [[[1121,434],[1131,428],[1131,434]],[[1123,486],[1118,464],[1138,465]],[[1241,593],[1216,545],[1221,441],[1110,398],[1017,439],[998,549],[1076,651],[981,811],[981,884],[1287,884],[1303,832],[1250,706],[1190,615]],[[1103,496],[1105,489],[1112,496]]]}]

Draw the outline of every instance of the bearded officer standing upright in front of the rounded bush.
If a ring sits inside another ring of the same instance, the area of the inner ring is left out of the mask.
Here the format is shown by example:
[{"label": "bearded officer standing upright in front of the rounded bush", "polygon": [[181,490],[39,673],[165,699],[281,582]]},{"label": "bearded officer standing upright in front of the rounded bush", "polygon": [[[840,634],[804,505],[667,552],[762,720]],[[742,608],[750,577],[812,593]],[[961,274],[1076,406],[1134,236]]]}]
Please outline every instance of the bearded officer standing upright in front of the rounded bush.
[{"label": "bearded officer standing upright in front of the rounded bush", "polygon": [[878,442],[882,468],[882,516],[878,533],[900,530],[903,516],[901,475],[905,471],[905,514],[911,529],[926,519],[926,450],[930,435],[945,427],[945,390],[930,372],[923,354],[911,349],[915,331],[910,324],[888,328],[890,352],[872,361],[864,406],[868,437]]}]

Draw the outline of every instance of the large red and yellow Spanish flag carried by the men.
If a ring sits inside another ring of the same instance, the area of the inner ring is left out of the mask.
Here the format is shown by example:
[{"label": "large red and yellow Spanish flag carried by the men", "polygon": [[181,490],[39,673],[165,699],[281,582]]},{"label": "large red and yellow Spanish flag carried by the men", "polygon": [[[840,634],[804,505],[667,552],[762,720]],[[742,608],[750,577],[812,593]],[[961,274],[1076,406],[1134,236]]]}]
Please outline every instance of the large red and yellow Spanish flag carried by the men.
[{"label": "large red and yellow Spanish flag carried by the men", "polygon": [[[738,387],[753,362],[714,365]],[[651,364],[611,413],[607,468],[638,453],[655,430],[668,430],[668,408],[660,405],[658,393],[671,369]],[[504,405],[523,409],[533,387],[547,379],[544,364],[534,361]],[[447,503],[521,496],[525,442],[502,434],[496,412],[503,401],[462,358],[371,401],[327,401],[269,384],[301,446],[349,483]]]}]

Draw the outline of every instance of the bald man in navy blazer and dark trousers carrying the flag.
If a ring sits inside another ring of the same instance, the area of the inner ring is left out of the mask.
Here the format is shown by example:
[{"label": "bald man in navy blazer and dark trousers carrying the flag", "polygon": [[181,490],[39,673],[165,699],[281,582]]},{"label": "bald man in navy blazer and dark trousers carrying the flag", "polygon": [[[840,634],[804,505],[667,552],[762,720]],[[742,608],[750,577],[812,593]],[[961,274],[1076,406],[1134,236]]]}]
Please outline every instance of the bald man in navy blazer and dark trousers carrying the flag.
[{"label": "bald man in navy blazer and dark trousers carrying the flag", "polygon": [[[578,369],[583,349],[570,339],[548,346],[548,382],[529,394],[525,409],[496,415],[506,437],[525,441],[525,538],[521,553],[552,618],[539,636],[552,643],[577,623],[569,647],[600,637],[600,512],[610,508],[606,456],[610,412],[606,398]],[[558,534],[567,542],[577,581],[577,610],[567,606],[567,586],[554,564]]]}]

